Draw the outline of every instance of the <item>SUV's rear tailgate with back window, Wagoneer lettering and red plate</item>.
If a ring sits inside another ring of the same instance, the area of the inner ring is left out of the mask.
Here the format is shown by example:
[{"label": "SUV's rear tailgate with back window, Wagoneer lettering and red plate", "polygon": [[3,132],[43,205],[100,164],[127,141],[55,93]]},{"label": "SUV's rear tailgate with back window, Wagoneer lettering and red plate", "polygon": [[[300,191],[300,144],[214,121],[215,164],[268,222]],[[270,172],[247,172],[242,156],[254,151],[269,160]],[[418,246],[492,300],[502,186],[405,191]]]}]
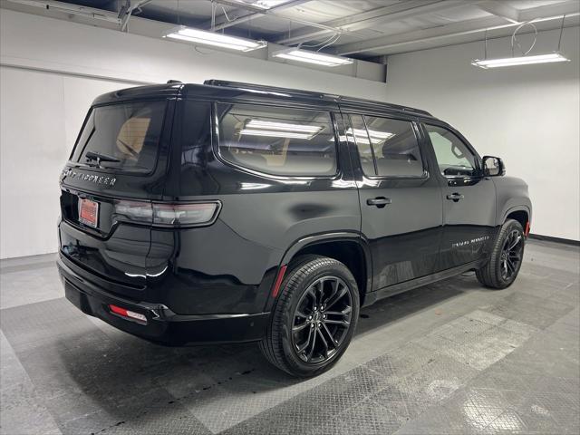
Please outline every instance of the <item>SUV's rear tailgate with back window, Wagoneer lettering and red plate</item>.
[{"label": "SUV's rear tailgate with back window, Wagoneer lettering and red plate", "polygon": [[146,297],[150,226],[123,205],[160,200],[173,103],[93,107],[61,177],[60,251],[68,266],[112,293]]}]

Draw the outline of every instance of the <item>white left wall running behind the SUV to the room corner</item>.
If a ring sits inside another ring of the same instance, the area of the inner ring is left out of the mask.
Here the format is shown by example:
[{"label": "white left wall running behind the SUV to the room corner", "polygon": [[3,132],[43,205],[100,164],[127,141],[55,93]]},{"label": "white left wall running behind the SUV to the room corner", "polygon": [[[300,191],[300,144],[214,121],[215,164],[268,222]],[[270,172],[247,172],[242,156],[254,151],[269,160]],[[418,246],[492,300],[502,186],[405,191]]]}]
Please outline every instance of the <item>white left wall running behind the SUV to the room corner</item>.
[{"label": "white left wall running behind the SUV to the room corner", "polygon": [[[201,52],[201,53],[199,53]],[[385,99],[382,82],[0,9],[0,257],[54,252],[58,176],[97,95],[136,82],[258,82]]]}]

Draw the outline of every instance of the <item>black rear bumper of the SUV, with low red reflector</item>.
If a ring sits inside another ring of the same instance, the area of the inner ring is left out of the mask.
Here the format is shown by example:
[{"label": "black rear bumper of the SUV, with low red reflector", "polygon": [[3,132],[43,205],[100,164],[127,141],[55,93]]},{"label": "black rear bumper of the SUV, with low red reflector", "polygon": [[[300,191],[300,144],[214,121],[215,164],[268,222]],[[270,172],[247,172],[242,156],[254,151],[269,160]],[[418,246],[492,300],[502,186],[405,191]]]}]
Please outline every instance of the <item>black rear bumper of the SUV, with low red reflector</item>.
[{"label": "black rear bumper of the SUV, with low red reflector", "polygon": [[[83,313],[146,340],[169,345],[189,343],[244,343],[262,339],[269,313],[258,314],[175,314],[163,304],[135,302],[111,295],[74,271],[62,254],[57,260],[66,298]],[[145,315],[147,323],[111,313],[117,305]]]}]

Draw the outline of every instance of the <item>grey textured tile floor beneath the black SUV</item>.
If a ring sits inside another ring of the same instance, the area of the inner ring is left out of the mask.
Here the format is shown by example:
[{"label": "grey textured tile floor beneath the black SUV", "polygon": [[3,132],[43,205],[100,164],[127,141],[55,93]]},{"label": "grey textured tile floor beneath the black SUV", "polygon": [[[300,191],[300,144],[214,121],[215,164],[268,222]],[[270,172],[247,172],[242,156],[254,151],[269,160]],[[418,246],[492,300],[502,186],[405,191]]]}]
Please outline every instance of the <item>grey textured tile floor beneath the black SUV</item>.
[{"label": "grey textured tile floor beneath the black SUV", "polygon": [[580,431],[578,247],[530,241],[504,291],[468,274],[365,308],[308,381],[253,344],[165,348],[87,317],[53,256],[0,266],[5,434]]}]

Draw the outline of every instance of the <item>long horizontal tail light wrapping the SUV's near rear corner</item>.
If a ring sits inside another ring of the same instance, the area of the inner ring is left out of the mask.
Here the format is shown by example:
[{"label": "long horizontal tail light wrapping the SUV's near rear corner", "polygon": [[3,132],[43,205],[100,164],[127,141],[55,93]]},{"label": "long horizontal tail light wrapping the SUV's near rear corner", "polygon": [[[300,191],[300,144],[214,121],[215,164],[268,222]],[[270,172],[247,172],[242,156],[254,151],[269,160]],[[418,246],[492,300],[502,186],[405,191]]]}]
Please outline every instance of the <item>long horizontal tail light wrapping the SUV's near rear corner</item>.
[{"label": "long horizontal tail light wrapping the SUV's near rear corner", "polygon": [[199,227],[212,223],[220,208],[219,201],[159,204],[121,200],[115,203],[114,219],[156,227]]}]

